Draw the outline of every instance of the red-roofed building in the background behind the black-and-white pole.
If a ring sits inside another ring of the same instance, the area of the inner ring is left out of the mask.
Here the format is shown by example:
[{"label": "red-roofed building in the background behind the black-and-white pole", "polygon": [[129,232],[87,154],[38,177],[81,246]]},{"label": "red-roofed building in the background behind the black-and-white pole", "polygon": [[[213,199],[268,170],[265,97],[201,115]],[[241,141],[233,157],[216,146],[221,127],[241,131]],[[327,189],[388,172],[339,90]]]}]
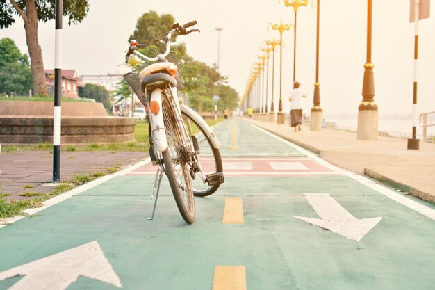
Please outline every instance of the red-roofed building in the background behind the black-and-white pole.
[{"label": "red-roofed building in the background behind the black-and-white pole", "polygon": [[[50,95],[54,95],[54,70],[45,70],[45,83]],[[76,70],[62,70],[62,95],[79,99],[79,87],[84,87]]]}]

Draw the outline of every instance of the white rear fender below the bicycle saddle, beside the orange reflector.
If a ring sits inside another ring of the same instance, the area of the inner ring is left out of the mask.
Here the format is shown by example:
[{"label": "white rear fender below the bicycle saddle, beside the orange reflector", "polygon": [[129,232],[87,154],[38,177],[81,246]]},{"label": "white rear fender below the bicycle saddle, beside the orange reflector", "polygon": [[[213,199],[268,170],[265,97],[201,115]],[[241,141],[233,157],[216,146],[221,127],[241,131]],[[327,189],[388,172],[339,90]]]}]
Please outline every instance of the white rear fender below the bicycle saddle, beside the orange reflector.
[{"label": "white rear fender below the bicycle saddle, beside the orange reflector", "polygon": [[150,112],[151,115],[151,132],[153,135],[154,148],[159,152],[167,149],[167,138],[165,130],[165,122],[163,122],[163,108],[162,108],[162,92],[160,88],[156,88],[151,92],[151,102],[156,101],[160,110],[157,115]]}]

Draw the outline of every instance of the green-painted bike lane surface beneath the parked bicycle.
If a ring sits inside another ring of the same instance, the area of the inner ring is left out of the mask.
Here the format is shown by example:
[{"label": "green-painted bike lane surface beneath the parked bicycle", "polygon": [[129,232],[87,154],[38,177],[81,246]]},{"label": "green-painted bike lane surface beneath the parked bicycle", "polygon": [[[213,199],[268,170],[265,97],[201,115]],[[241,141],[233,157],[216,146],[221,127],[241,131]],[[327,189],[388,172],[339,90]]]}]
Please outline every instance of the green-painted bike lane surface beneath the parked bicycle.
[{"label": "green-painted bike lane surface beneath the parked bicycle", "polygon": [[[194,224],[165,179],[147,220],[155,168],[143,164],[0,228],[0,289],[433,289],[433,205],[391,192],[420,214],[241,120],[213,129],[226,181],[195,198]],[[227,198],[243,222],[222,223]],[[343,211],[381,220],[362,237],[306,221]]]}]

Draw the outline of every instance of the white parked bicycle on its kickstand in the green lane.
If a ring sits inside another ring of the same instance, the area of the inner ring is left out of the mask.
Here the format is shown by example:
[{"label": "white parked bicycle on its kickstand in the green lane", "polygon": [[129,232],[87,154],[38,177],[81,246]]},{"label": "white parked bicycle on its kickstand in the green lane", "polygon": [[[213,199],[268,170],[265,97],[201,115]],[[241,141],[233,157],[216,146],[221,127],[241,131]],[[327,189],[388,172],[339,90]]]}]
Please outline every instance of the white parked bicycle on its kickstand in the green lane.
[{"label": "white parked bicycle on its kickstand in the green lane", "polygon": [[[189,224],[195,220],[194,195],[211,195],[224,182],[219,140],[208,124],[183,104],[175,79],[178,67],[167,58],[172,36],[199,32],[198,29],[186,31],[195,24],[196,21],[172,25],[165,38],[165,52],[154,58],[137,51],[139,43],[136,40],[131,40],[126,54],[126,63],[131,54],[149,62],[124,75],[150,113],[149,156],[158,170],[151,195],[151,198],[155,197],[154,207],[148,220],[154,219],[163,174],[169,180],[181,216]],[[208,154],[201,154],[205,151]]]}]

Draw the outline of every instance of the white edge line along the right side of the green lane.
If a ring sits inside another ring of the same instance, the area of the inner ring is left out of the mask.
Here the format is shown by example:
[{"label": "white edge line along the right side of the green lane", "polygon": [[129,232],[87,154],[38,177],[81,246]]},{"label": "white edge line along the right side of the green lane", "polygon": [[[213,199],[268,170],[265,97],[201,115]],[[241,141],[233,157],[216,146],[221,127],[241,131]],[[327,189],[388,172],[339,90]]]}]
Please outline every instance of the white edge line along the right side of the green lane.
[{"label": "white edge line along the right side of the green lane", "polygon": [[285,140],[279,136],[276,136],[276,135],[270,133],[269,131],[266,131],[263,128],[257,127],[254,124],[250,124],[250,125],[252,127],[255,127],[258,130],[264,132],[265,134],[268,134],[269,136],[272,136],[273,138],[280,140],[282,143],[285,143],[285,144],[289,145],[290,147],[295,148],[299,152],[306,154],[306,156],[313,159],[315,162],[319,163],[321,166],[325,166],[326,168],[334,170],[334,172],[337,172],[340,175],[350,177],[350,178],[356,180],[357,182],[367,186],[368,188],[371,188],[374,191],[381,193],[381,195],[385,195],[387,198],[391,198],[391,200],[394,200],[395,202],[399,202],[400,204],[404,205],[405,207],[408,207],[409,209],[413,209],[414,211],[417,211],[418,213],[422,214],[423,216],[427,216],[428,218],[435,220],[435,210],[434,209],[431,209],[429,207],[426,207],[423,204],[420,204],[418,202],[410,200],[409,198],[406,198],[404,195],[400,195],[399,193],[392,191],[390,188],[386,188],[384,186],[381,186],[380,184],[372,182],[367,177],[364,177],[362,175],[357,175],[355,172],[345,170],[343,168],[338,168],[337,166],[334,166],[331,163],[329,163],[329,162],[321,159],[320,157],[316,156],[315,154],[311,153],[309,150],[305,150],[304,148],[300,147],[299,145],[295,145],[295,144],[289,142],[288,140]]}]

